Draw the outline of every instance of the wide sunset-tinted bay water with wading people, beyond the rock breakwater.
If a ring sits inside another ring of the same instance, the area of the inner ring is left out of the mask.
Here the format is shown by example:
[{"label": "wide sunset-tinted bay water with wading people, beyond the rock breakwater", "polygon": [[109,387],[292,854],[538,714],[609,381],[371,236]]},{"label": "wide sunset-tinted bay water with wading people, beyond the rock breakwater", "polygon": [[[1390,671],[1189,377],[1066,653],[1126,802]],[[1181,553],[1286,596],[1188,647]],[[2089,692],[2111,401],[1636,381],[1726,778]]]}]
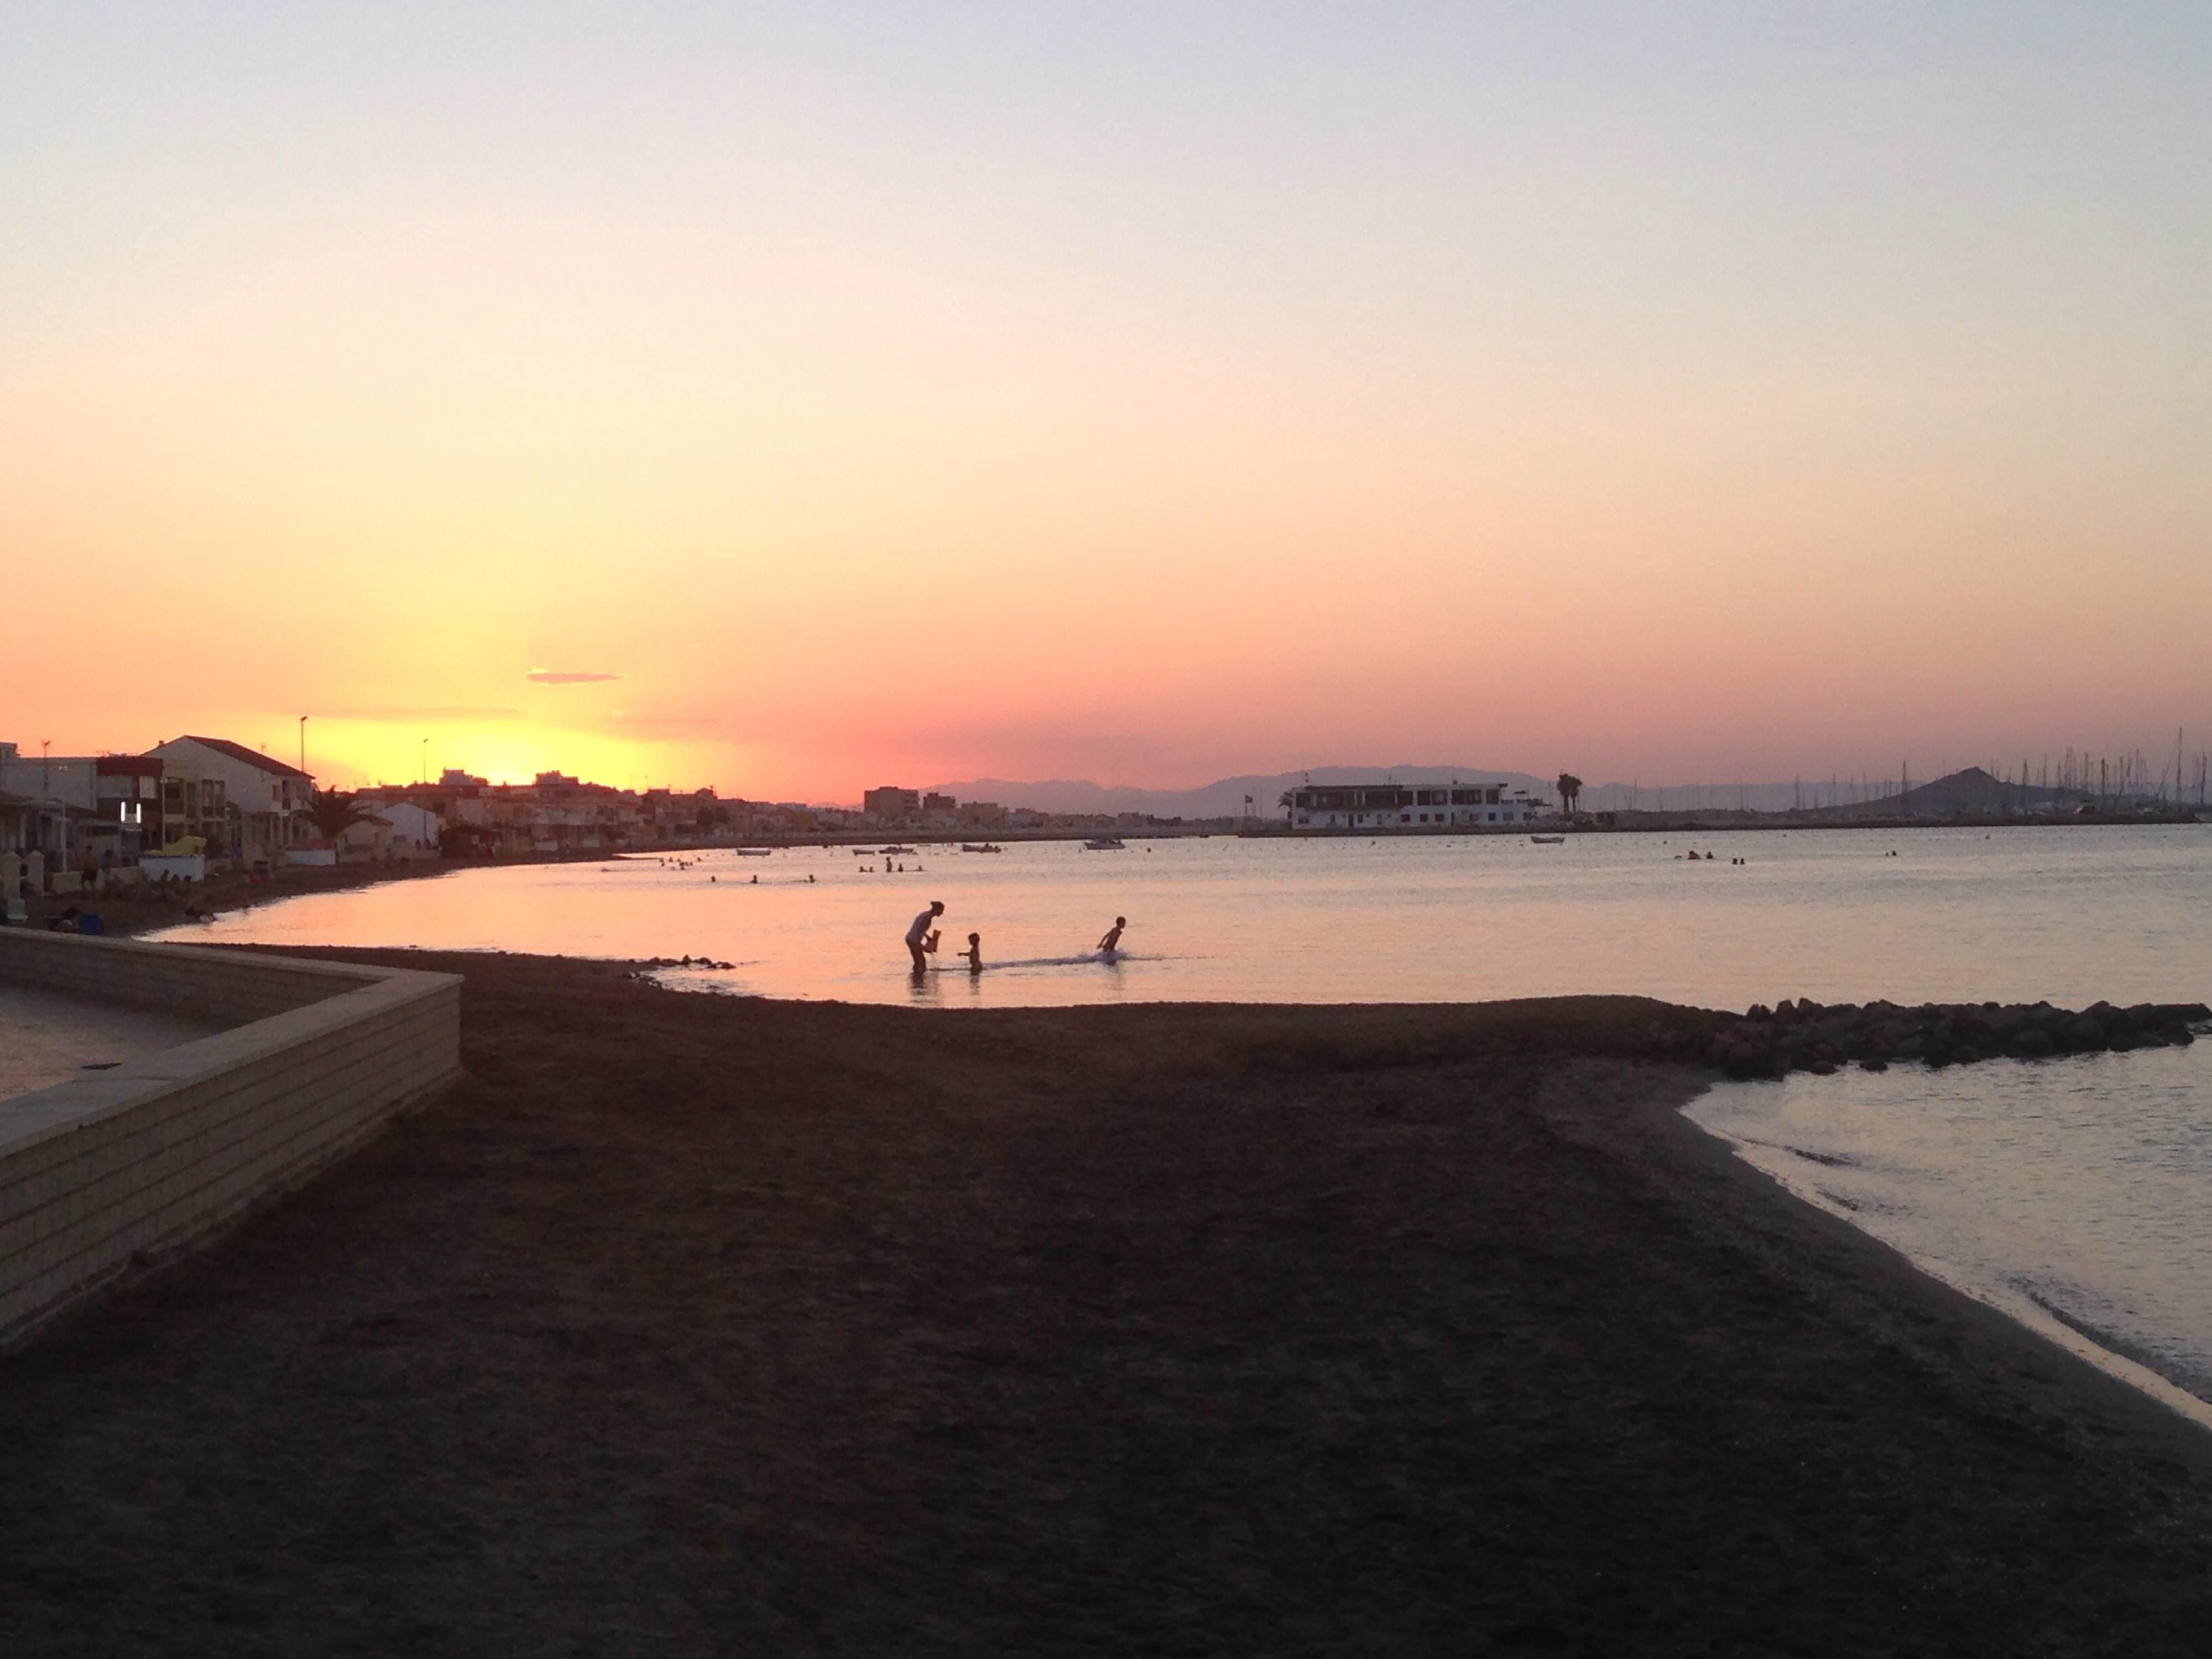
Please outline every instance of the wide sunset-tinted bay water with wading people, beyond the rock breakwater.
[{"label": "wide sunset-tinted bay water with wading people, beyond the rock breakwater", "polygon": [[[1686,863],[1688,847],[1721,854]],[[1896,849],[1896,856],[1889,852]],[[1730,865],[1728,858],[1745,858]],[[232,914],[168,938],[708,956],[690,989],[854,1002],[1467,1002],[1630,991],[2112,1002],[2212,993],[2212,825],[1425,841],[845,847],[469,869]],[[916,865],[922,865],[916,872]],[[759,876],[759,885],[752,878]],[[814,876],[814,883],[807,883]],[[900,938],[942,898],[987,973],[914,991]],[[1082,958],[1115,916],[1126,956]]]}]

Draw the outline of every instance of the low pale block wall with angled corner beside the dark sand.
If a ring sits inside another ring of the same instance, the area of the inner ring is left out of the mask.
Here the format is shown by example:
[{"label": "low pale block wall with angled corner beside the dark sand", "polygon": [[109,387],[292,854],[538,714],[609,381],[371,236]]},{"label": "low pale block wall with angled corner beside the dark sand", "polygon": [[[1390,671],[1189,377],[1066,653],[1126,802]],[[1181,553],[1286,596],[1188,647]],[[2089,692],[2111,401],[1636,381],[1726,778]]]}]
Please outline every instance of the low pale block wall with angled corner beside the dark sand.
[{"label": "low pale block wall with angled corner beside the dark sand", "polygon": [[7,929],[0,980],[237,1022],[0,1104],[0,1340],[301,1183],[460,1075],[451,973]]}]

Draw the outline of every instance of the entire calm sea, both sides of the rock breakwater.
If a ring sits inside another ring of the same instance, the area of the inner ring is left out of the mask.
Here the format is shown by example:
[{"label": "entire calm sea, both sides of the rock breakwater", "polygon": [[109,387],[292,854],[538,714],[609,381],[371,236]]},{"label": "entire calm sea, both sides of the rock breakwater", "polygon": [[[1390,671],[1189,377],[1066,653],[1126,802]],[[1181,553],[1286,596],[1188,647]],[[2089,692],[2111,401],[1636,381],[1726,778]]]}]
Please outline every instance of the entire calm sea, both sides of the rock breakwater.
[{"label": "entire calm sea, both sides of the rock breakwater", "polygon": [[[1688,863],[1692,845],[1721,858]],[[1577,991],[1728,1009],[2212,1002],[2212,825],[1033,843],[894,863],[907,872],[810,847],[471,869],[168,938],[706,956],[734,967],[668,982],[945,1009]],[[980,931],[987,973],[953,964],[909,984],[900,936],[931,898],[947,902],[947,956]],[[1115,916],[1128,956],[1102,964],[1091,947]],[[1692,1117],[1938,1276],[2212,1422],[2212,1042],[1728,1084]]]}]

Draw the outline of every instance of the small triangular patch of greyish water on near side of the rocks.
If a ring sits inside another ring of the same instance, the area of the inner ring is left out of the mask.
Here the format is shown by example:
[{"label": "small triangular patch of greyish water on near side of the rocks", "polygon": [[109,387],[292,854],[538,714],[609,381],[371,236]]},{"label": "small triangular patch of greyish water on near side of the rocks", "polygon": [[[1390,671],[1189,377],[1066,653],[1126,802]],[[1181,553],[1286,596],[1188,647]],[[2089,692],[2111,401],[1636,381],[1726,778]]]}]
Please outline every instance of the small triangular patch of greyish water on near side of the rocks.
[{"label": "small triangular patch of greyish water on near side of the rocks", "polygon": [[2212,1042],[1798,1073],[1721,1084],[1688,1115],[1798,1197],[2212,1427]]}]

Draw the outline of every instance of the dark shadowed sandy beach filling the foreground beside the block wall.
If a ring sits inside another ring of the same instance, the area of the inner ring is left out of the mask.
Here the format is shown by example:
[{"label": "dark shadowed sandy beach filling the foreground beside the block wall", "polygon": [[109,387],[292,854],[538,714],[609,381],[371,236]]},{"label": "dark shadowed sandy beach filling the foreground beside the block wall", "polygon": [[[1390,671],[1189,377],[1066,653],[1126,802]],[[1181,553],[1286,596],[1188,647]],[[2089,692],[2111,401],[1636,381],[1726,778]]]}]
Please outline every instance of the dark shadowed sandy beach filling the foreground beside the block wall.
[{"label": "dark shadowed sandy beach filling the foreground beside the block wall", "polygon": [[1701,1015],[445,964],[471,1082],[0,1360],[0,1652],[2212,1644],[2212,1436],[1683,1124]]}]

